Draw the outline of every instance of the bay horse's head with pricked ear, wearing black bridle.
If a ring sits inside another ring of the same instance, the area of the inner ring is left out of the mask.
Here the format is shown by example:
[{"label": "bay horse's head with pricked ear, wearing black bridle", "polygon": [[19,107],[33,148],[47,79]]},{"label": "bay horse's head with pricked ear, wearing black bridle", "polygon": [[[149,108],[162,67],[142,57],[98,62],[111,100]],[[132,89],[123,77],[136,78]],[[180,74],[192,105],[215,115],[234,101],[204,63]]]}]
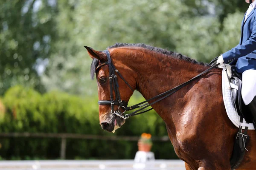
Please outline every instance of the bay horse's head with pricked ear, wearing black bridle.
[{"label": "bay horse's head with pricked ear, wearing black bridle", "polygon": [[[111,71],[113,70],[109,68],[110,65],[106,52],[96,51],[87,46],[84,47],[87,49],[89,56],[93,59],[91,64],[92,79],[94,73],[96,73],[99,96],[99,123],[102,129],[114,133],[117,128],[125,123],[125,119],[117,114],[113,114],[113,112],[120,111],[122,113],[125,111],[124,108],[127,106],[134,92],[133,89],[136,89],[135,73],[128,65],[124,64],[123,59],[125,56],[123,56],[123,53],[120,53],[118,49],[110,49],[109,55],[111,55],[111,63],[115,68],[114,71],[119,72],[119,74],[115,74],[111,77],[111,75],[113,75]],[[120,78],[120,74],[122,74],[122,77],[125,77],[125,80]],[[116,82],[111,82],[113,79],[115,79]],[[117,87],[115,83],[117,83]],[[126,83],[128,83],[128,85]],[[112,99],[111,95],[113,95]],[[111,105],[111,100],[115,105]],[[124,106],[121,106],[120,102]]]}]

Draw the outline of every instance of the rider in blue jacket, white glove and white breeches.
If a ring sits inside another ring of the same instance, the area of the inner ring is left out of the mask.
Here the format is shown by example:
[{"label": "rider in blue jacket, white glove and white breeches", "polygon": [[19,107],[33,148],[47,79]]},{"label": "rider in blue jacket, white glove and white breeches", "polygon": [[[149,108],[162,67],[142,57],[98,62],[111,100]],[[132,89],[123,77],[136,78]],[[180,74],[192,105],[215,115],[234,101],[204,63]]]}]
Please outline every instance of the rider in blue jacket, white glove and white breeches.
[{"label": "rider in blue jacket, white glove and white breeches", "polygon": [[236,71],[242,73],[241,96],[250,109],[256,125],[256,0],[250,3],[241,24],[241,40],[236,47],[218,57],[217,63],[236,64]]}]

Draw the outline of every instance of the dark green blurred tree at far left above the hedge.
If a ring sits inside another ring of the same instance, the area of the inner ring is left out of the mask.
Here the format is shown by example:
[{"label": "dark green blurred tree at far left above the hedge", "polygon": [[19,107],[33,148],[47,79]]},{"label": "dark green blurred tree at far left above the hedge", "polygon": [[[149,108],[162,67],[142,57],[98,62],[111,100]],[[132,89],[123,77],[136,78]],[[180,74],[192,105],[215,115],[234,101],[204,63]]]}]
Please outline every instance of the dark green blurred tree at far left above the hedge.
[{"label": "dark green blurred tree at far left above the hedge", "polygon": [[38,77],[55,40],[55,4],[0,0],[0,95],[16,84],[43,92]]}]

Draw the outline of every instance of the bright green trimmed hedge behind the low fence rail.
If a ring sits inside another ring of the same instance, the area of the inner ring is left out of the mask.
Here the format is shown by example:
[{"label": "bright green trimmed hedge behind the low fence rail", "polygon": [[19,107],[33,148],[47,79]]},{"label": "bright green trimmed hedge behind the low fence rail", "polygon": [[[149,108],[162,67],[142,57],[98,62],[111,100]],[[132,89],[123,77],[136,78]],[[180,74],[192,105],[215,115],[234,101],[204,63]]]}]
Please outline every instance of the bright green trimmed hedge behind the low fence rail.
[{"label": "bright green trimmed hedge behind the low fence rail", "polygon": [[[153,111],[128,119],[116,133],[99,125],[97,97],[79,98],[63,92],[39,94],[15,86],[2,97],[1,132],[79,133],[104,136],[166,136],[163,120]],[[140,99],[143,100],[143,99]],[[130,104],[138,102],[132,98]],[[59,159],[60,139],[0,138],[2,159]],[[134,159],[137,142],[67,139],[66,159]],[[171,142],[154,142],[156,159],[175,159]]]}]

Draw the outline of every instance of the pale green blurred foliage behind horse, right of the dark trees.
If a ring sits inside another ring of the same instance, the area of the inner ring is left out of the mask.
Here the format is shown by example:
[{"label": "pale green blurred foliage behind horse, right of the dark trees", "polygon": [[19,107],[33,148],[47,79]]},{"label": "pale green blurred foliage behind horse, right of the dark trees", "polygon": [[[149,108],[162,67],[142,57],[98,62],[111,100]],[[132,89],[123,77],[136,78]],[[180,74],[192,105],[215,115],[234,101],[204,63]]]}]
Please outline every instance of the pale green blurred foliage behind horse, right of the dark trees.
[{"label": "pale green blurred foliage behind horse, right of the dark trees", "polygon": [[116,42],[142,42],[209,62],[238,43],[239,11],[248,4],[233,3],[237,6],[214,0],[58,1],[55,48],[60,50],[49,57],[42,82],[48,90],[96,94],[84,45],[100,51]]}]

